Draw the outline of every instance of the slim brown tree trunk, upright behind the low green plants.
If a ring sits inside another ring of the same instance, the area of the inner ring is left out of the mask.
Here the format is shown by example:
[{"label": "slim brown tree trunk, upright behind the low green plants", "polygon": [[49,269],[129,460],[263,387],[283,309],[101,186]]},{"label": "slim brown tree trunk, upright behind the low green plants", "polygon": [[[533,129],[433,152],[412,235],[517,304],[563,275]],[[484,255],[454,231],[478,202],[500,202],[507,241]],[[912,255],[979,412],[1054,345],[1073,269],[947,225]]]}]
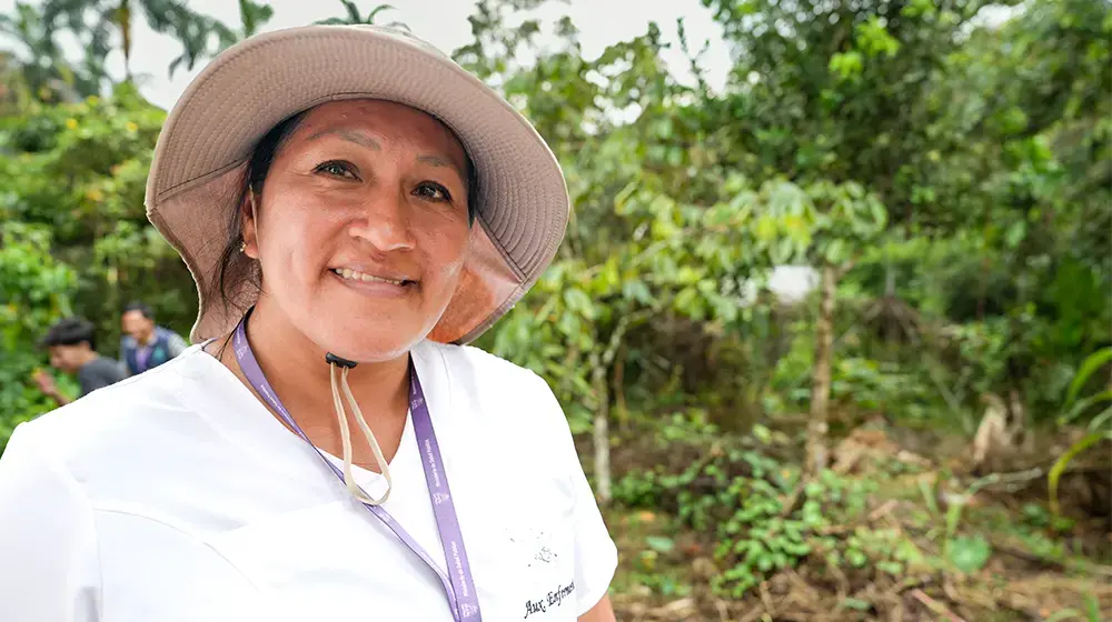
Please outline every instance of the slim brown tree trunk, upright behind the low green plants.
[{"label": "slim brown tree trunk, upright behind the low green plants", "polygon": [[826,428],[831,399],[831,365],[834,350],[834,295],[837,273],[823,265],[818,321],[815,323],[815,367],[811,378],[811,420],[807,423],[807,464],[811,474],[826,468]]}]

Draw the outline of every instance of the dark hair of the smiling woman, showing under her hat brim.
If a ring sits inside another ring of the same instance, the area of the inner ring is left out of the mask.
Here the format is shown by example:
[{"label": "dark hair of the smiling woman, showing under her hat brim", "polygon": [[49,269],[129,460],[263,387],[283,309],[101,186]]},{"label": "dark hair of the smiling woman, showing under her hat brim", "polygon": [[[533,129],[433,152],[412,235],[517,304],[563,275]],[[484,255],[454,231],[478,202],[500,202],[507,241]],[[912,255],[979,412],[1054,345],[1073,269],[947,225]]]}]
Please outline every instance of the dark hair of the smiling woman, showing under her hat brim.
[{"label": "dark hair of the smiling woman, showing under her hat brim", "polygon": [[[258,265],[250,258],[240,252],[244,243],[244,204],[247,203],[250,193],[256,198],[261,197],[262,185],[266,182],[270,167],[274,164],[278,151],[286,144],[289,138],[297,131],[308,111],[301,111],[292,117],[279,122],[270,128],[251,151],[247,160],[247,170],[244,171],[242,189],[239,193],[239,201],[236,209],[229,214],[228,240],[224,251],[220,253],[220,261],[217,264],[216,291],[209,292],[212,297],[218,294],[225,304],[225,310],[230,310],[235,304],[236,293],[242,283],[249,283],[255,289],[261,288],[261,274]],[[463,141],[460,141],[463,142]],[[478,172],[466,149],[464,152],[467,167],[467,223],[475,222],[475,213],[478,209],[479,181]],[[256,205],[258,207],[258,205]],[[247,309],[236,309],[239,313],[247,312]]]}]

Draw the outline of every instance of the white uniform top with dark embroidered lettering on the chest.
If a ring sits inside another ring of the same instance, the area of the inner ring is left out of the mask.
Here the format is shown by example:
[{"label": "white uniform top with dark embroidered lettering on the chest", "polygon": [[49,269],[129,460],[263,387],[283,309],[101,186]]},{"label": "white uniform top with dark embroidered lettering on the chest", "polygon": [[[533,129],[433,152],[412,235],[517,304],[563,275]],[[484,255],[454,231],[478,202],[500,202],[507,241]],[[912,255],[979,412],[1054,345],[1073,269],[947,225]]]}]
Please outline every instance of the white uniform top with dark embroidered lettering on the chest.
[{"label": "white uniform top with dark embroidered lettering on the chest", "polygon": [[[484,621],[574,621],[617,552],[548,385],[473,348],[413,354]],[[411,421],[390,471],[384,506],[444,570]],[[436,573],[200,347],[20,425],[0,459],[0,620],[356,619],[451,614]]]}]

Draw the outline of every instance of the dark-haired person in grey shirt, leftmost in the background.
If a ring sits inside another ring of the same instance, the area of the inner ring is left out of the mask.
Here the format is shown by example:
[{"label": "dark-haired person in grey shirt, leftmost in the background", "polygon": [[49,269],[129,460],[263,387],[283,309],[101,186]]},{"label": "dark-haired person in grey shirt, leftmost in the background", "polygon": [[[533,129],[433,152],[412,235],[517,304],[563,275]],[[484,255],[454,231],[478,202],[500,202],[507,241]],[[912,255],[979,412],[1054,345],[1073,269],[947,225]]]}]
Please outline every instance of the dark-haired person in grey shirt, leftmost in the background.
[{"label": "dark-haired person in grey shirt, leftmost in the background", "polygon": [[[123,373],[116,361],[97,353],[92,324],[81,318],[67,318],[50,327],[41,343],[50,350],[51,367],[77,375],[81,384],[81,398],[123,380]],[[37,371],[34,382],[59,407],[71,401],[61,393],[50,373]]]}]

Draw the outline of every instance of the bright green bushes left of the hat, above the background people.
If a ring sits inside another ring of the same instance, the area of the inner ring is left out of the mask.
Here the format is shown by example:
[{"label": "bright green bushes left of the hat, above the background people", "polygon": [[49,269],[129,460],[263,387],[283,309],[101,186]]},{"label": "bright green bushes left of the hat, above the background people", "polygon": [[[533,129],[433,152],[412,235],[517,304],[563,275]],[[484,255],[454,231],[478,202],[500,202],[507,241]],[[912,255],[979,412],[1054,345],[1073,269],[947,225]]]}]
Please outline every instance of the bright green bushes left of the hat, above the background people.
[{"label": "bright green bushes left of the hat, above the background people", "polygon": [[142,204],[163,120],[129,84],[110,98],[32,104],[0,119],[9,150],[0,158],[0,443],[16,423],[52,405],[30,373],[46,367],[37,343],[53,321],[89,318],[108,355],[117,353],[120,309],[131,299],[158,309],[160,323],[182,332],[190,325],[196,301],[185,292],[192,281]]}]

